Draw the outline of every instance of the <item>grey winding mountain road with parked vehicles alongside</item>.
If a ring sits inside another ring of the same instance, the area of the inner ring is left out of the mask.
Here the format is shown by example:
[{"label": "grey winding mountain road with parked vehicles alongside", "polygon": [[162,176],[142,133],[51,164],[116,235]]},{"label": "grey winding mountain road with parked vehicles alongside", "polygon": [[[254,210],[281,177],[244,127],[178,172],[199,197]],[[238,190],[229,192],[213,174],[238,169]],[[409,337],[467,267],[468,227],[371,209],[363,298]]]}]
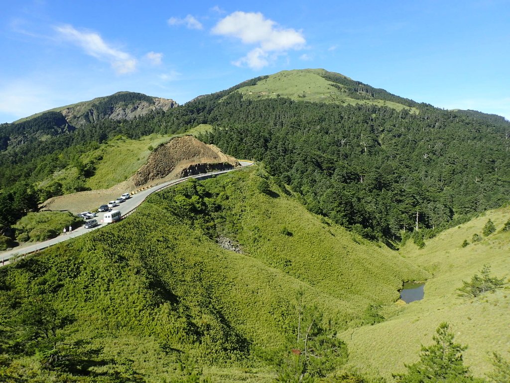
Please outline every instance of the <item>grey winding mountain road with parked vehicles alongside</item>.
[{"label": "grey winding mountain road with parked vehicles alongside", "polygon": [[[152,193],[155,193],[155,192],[159,192],[159,190],[162,190],[169,186],[173,186],[178,183],[184,182],[190,178],[198,178],[198,179],[209,178],[211,176],[216,176],[218,174],[232,172],[233,170],[242,169],[242,167],[253,165],[253,162],[251,162],[251,161],[239,161],[239,163],[241,164],[241,167],[236,167],[235,169],[221,170],[221,171],[211,172],[211,173],[196,174],[194,176],[178,178],[176,180],[168,181],[168,182],[162,183],[157,186],[152,186],[148,189],[142,190],[141,192],[131,196],[131,198],[129,200],[126,200],[123,203],[121,203],[120,205],[114,207],[113,210],[120,210],[120,212],[122,213],[122,218],[124,218],[124,217],[129,216],[129,214],[133,213],[136,210],[136,208],[143,201],[145,201],[145,199],[149,195],[151,195]],[[70,240],[71,238],[77,237],[79,235],[83,235],[85,233],[88,233],[89,231],[97,230],[97,229],[101,228],[103,226],[100,223],[101,222],[101,214],[102,213],[99,213],[96,218],[97,222],[99,222],[99,225],[92,229],[85,229],[83,226],[81,226],[81,227],[73,230],[71,233],[67,232],[66,235],[61,234],[56,238],[52,238],[51,240],[47,240],[44,242],[38,242],[36,244],[31,244],[31,245],[18,246],[12,250],[1,251],[0,252],[0,266],[7,264],[8,259],[12,258],[13,256],[34,253],[39,250],[45,249],[49,246]]]}]

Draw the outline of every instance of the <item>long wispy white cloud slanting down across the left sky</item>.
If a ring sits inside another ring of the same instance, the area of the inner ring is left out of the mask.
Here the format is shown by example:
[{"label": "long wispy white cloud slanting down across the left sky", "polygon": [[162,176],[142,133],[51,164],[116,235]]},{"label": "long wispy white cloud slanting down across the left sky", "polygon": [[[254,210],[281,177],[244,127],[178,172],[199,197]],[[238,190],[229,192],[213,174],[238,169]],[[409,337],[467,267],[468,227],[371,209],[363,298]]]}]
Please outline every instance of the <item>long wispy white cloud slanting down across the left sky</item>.
[{"label": "long wispy white cloud slanting down across the left sky", "polygon": [[80,32],[70,25],[55,27],[59,37],[80,46],[87,55],[107,61],[119,74],[131,73],[136,69],[137,60],[129,53],[108,45],[94,32]]}]

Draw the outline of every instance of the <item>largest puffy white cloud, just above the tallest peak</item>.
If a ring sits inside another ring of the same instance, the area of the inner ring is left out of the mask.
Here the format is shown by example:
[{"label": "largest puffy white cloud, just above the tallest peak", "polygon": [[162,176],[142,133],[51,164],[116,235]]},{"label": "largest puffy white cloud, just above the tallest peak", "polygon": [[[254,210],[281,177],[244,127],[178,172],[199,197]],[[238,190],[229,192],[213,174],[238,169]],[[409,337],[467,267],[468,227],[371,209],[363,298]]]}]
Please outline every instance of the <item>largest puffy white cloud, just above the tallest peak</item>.
[{"label": "largest puffy white cloud, just above the tallest peak", "polygon": [[275,21],[264,18],[260,12],[234,12],[218,21],[212,33],[237,38],[243,44],[258,45],[234,62],[252,69],[267,66],[278,55],[302,49],[306,43],[300,31],[282,28]]}]

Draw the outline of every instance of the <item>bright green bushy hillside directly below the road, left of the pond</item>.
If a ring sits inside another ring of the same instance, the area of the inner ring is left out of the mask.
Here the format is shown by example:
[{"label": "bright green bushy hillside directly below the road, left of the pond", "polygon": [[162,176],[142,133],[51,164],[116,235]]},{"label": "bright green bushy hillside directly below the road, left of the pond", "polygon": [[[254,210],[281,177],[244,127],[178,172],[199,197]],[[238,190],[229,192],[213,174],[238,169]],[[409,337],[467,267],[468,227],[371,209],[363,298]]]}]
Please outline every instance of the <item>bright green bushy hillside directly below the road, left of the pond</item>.
[{"label": "bright green bushy hillside directly below the road, left of the pond", "polygon": [[201,366],[212,381],[271,381],[297,291],[335,333],[426,276],[260,182],[245,169],[167,189],[119,224],[0,269],[0,372],[159,382]]}]

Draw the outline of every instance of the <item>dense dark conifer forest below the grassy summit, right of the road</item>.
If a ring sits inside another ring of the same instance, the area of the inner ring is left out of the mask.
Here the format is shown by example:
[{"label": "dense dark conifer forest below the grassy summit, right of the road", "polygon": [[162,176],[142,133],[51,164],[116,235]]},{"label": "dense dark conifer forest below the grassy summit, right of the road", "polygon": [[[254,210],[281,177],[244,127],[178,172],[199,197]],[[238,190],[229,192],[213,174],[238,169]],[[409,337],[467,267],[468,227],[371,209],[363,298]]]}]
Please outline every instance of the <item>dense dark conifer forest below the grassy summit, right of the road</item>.
[{"label": "dense dark conifer forest below the grassy summit, right of the road", "polygon": [[311,211],[367,237],[441,228],[510,193],[510,124],[428,106],[420,113],[288,99],[218,103],[205,136],[264,161]]}]

